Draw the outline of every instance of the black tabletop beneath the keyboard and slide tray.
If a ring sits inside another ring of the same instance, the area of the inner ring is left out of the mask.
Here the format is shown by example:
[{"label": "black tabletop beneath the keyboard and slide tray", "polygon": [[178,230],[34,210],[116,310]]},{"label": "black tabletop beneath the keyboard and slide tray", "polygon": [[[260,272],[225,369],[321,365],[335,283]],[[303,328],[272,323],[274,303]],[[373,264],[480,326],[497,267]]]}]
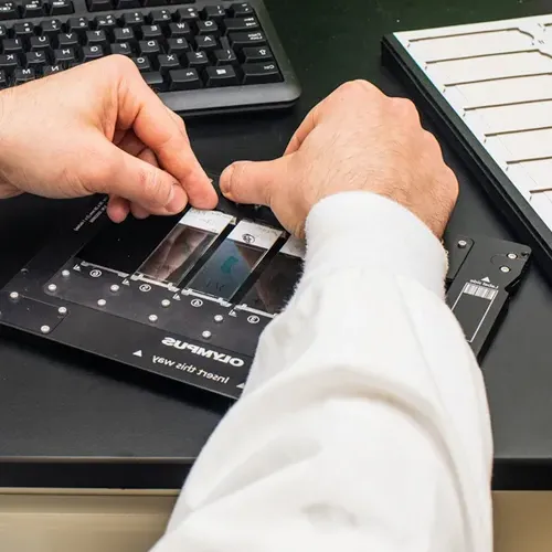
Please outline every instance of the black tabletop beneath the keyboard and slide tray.
[{"label": "black tabletop beneath the keyboard and slide tray", "polygon": [[[308,109],[340,83],[368,78],[402,94],[380,67],[382,34],[552,11],[552,1],[268,0],[304,96],[294,113],[189,124],[206,168],[279,155]],[[514,238],[464,171],[455,234]],[[0,285],[71,202],[0,202]],[[496,488],[552,488],[552,293],[533,266],[484,372],[496,438]],[[446,370],[446,367],[443,367]],[[172,382],[0,330],[0,487],[180,487],[227,404]],[[359,436],[362,438],[362,436]]]}]

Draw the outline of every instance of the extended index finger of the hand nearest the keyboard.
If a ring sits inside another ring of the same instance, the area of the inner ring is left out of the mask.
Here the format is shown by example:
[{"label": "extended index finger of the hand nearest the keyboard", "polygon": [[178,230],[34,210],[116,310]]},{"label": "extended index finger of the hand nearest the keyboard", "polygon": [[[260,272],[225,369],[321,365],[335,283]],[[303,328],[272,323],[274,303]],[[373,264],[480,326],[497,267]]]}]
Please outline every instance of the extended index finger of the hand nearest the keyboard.
[{"label": "extended index finger of the hand nearest the keyboard", "polygon": [[119,75],[121,125],[132,128],[136,136],[153,150],[163,169],[185,189],[193,205],[214,208],[216,192],[190,147],[183,121],[169,114],[132,62],[119,63],[126,66]]}]

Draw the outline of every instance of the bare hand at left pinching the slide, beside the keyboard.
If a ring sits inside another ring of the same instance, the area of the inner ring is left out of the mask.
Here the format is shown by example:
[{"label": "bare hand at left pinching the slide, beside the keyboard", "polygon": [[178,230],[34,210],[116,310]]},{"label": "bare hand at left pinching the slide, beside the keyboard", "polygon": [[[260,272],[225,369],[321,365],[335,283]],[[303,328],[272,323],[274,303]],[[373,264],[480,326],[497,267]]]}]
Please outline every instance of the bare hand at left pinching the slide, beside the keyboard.
[{"label": "bare hand at left pinching the slide, beside the keyboard", "polygon": [[118,55],[0,93],[0,199],[22,192],[106,193],[115,222],[217,202],[182,119]]}]

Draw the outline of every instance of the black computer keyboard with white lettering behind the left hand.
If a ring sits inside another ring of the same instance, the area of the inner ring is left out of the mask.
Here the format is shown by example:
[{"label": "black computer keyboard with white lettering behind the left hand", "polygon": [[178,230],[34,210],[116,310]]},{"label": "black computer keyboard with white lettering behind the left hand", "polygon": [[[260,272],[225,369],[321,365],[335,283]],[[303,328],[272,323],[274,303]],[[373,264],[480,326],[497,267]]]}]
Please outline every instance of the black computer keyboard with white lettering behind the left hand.
[{"label": "black computer keyboard with white lettering behind the left hand", "polygon": [[0,0],[0,88],[110,54],[180,114],[288,107],[300,95],[264,4]]}]

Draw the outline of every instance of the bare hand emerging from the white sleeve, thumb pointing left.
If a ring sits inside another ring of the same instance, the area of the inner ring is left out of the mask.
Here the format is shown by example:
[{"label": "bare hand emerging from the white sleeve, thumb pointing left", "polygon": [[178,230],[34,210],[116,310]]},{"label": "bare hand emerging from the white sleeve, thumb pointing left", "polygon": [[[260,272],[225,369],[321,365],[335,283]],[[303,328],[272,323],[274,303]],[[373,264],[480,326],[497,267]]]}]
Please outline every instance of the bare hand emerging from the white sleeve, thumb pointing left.
[{"label": "bare hand emerging from the white sleeve, thumb pointing left", "polygon": [[319,200],[375,192],[410,209],[440,237],[458,182],[410,100],[355,81],[310,112],[284,157],[233,163],[221,176],[221,189],[232,201],[269,206],[299,236]]}]

